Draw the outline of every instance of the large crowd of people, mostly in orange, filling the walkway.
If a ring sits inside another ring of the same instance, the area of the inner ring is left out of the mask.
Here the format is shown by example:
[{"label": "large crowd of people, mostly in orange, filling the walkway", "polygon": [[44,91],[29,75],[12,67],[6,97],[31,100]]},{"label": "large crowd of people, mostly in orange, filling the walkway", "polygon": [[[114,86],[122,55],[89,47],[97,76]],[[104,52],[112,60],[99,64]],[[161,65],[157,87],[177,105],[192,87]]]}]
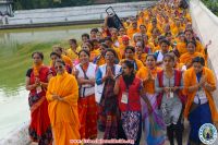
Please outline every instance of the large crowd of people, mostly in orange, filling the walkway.
[{"label": "large crowd of people, mostly in orange, filling the walkway", "polygon": [[123,20],[123,27],[108,27],[108,19],[81,40],[70,39],[69,49],[53,46],[49,67],[43,52],[33,52],[26,73],[33,142],[70,145],[102,132],[104,140],[135,145],[143,138],[182,145],[186,119],[187,144],[202,144],[201,125],[218,121],[216,81],[189,9],[160,0]]}]

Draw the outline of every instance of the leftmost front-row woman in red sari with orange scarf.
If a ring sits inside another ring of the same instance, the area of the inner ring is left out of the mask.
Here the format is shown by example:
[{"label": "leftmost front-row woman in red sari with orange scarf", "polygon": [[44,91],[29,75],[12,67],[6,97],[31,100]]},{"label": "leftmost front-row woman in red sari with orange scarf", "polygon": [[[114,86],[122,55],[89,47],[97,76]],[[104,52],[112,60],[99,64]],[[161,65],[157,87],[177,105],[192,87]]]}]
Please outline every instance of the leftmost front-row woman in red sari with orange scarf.
[{"label": "leftmost front-row woman in red sari with orange scarf", "polygon": [[33,142],[37,142],[39,145],[49,145],[52,143],[52,134],[46,89],[52,75],[49,68],[43,64],[44,55],[41,52],[34,52],[32,58],[33,68],[26,73],[26,89],[29,90],[28,104],[31,107],[28,133]]}]

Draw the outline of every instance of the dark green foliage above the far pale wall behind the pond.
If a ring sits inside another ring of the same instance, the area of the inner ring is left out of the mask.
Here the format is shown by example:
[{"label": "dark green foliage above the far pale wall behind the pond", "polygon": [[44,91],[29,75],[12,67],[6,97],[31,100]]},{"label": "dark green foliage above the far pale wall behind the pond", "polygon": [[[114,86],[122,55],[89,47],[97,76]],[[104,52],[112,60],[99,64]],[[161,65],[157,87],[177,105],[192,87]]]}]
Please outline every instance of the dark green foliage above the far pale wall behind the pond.
[{"label": "dark green foliage above the far pale wall behind the pond", "polygon": [[[130,2],[142,0],[116,0],[116,2]],[[95,0],[14,0],[14,10],[31,10],[31,9],[46,9],[46,8],[63,8],[89,5],[95,3]]]}]

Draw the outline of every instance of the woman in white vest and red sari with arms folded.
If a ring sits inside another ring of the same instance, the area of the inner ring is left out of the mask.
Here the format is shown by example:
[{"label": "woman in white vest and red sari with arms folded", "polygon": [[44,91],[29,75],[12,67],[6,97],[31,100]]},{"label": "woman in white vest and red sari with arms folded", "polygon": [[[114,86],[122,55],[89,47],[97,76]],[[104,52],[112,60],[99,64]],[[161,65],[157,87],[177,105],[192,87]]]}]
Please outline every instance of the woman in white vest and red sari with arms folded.
[{"label": "woman in white vest and red sari with arms folded", "polygon": [[97,65],[89,62],[89,52],[78,52],[80,64],[77,82],[80,84],[78,117],[81,121],[81,138],[97,137],[97,106],[95,101],[95,74]]}]

